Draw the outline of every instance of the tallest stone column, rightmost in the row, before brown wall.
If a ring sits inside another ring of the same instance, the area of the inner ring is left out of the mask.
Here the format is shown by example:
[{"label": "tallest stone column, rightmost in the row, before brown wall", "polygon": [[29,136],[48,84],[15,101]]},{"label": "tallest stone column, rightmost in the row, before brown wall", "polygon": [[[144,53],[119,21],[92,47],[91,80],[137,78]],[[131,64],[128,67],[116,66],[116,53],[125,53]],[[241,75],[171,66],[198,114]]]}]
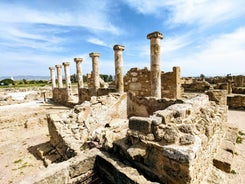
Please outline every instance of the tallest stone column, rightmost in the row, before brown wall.
[{"label": "tallest stone column, rightmost in the row, before brown wall", "polygon": [[160,40],[163,35],[153,32],[147,35],[151,45],[151,96],[161,98]]}]

